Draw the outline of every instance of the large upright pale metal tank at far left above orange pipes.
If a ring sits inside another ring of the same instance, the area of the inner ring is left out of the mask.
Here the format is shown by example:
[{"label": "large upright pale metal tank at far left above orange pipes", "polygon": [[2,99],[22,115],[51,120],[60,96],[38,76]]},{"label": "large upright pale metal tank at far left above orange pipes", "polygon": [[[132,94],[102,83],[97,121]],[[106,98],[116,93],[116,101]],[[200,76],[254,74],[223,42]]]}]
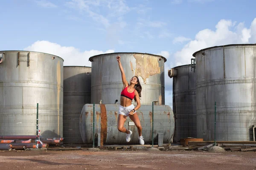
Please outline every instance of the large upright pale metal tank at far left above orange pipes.
[{"label": "large upright pale metal tank at far left above orange pipes", "polygon": [[33,51],[0,51],[0,134],[63,136],[63,62]]}]

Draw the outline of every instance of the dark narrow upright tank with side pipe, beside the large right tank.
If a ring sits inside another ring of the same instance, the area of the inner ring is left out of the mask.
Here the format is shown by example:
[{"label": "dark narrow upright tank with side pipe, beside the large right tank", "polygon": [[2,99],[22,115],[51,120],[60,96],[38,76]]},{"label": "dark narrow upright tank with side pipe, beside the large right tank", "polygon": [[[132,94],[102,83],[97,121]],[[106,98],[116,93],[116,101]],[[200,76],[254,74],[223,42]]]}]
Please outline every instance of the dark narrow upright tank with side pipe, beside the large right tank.
[{"label": "dark narrow upright tank with side pipe, beside the large right tank", "polygon": [[196,73],[190,64],[172,68],[168,75],[173,78],[174,143],[184,138],[196,138]]}]

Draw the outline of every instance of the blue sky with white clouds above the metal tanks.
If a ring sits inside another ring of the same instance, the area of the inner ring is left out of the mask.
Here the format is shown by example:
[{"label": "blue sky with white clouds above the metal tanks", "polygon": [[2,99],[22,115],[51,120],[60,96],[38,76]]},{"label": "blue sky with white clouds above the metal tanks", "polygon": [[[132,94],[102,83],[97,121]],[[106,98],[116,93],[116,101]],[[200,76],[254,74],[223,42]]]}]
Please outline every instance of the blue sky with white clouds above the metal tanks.
[{"label": "blue sky with white clouds above the metal tanks", "polygon": [[[256,43],[255,0],[1,0],[0,50],[55,54],[90,66],[109,52],[160,54],[167,70],[202,48]],[[70,57],[72,56],[72,57]]]}]

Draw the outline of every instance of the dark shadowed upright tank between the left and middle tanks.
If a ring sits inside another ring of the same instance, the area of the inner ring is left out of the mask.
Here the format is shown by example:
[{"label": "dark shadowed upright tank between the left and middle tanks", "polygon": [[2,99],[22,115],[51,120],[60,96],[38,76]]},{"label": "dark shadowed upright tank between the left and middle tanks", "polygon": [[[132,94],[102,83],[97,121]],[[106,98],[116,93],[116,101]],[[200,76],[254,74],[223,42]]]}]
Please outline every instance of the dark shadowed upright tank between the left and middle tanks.
[{"label": "dark shadowed upright tank between the left and middle tanks", "polygon": [[63,128],[65,143],[83,143],[79,117],[84,104],[90,103],[91,67],[64,66]]}]

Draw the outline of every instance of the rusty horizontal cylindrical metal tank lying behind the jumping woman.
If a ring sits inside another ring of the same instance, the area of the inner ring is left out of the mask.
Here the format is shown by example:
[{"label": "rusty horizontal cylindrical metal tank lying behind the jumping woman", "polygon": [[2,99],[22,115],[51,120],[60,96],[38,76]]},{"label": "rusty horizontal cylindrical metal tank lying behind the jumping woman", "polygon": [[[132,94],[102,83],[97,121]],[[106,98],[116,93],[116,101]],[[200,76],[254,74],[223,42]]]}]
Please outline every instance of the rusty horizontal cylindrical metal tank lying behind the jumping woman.
[{"label": "rusty horizontal cylindrical metal tank lying behind the jumping woman", "polygon": [[[131,141],[126,142],[126,134],[117,129],[118,104],[95,104],[94,106],[94,132],[99,137],[99,145],[108,144],[140,144],[137,127],[130,118],[125,122],[125,128],[131,130]],[[145,144],[152,144],[152,119],[154,122],[153,138],[158,140],[163,136],[163,143],[171,143],[174,134],[174,115],[171,107],[167,105],[141,105],[137,114],[142,125],[142,136]],[[86,144],[93,142],[93,104],[84,105],[80,115],[80,133]],[[96,137],[96,139],[98,139]],[[156,143],[155,143],[156,144]]]}]

